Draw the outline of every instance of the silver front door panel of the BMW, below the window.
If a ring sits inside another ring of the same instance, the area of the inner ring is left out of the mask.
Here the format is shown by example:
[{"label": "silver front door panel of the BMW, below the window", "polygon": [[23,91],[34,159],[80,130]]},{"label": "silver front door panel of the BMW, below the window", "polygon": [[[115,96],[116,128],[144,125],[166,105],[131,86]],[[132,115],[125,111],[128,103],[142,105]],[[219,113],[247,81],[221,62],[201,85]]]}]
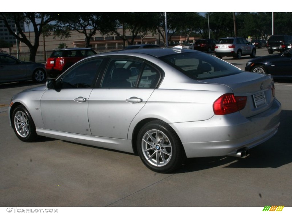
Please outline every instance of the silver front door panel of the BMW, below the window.
[{"label": "silver front door panel of the BMW, below the window", "polygon": [[[47,90],[41,97],[41,114],[46,129],[91,135],[88,98],[92,88]],[[84,101],[75,101],[76,98]]]}]

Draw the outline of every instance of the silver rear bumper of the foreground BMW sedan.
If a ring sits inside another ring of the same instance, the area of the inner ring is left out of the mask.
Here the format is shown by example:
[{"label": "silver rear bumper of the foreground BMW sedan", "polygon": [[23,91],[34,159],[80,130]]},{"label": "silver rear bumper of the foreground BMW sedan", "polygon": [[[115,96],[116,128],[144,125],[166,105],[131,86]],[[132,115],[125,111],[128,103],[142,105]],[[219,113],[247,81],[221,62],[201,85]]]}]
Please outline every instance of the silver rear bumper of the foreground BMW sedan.
[{"label": "silver rear bumper of the foreground BMW sedan", "polygon": [[187,157],[227,156],[241,148],[255,147],[276,134],[280,112],[281,104],[275,99],[268,110],[250,118],[237,112],[169,125],[178,133]]}]

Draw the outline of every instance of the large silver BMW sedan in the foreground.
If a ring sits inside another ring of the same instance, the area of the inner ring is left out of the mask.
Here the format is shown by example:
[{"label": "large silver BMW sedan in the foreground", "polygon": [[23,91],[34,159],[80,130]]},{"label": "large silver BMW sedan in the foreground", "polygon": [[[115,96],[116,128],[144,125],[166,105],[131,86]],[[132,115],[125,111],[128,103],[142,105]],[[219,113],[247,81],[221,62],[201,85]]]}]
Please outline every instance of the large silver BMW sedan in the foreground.
[{"label": "large silver BMW sedan in the foreground", "polygon": [[137,152],[169,173],[185,157],[247,155],[277,132],[280,111],[270,75],[178,46],[85,58],[14,95],[9,119],[22,141],[42,135]]}]

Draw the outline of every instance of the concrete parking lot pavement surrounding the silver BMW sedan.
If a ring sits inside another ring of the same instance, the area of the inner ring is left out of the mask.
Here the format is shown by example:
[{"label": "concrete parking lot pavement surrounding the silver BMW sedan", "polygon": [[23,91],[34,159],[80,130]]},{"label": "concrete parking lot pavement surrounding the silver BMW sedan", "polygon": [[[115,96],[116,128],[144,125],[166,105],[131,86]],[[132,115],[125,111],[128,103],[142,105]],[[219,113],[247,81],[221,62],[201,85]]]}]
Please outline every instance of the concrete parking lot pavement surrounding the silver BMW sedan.
[{"label": "concrete parking lot pavement surrounding the silver BMW sedan", "polygon": [[[257,49],[256,56],[268,55]],[[244,69],[250,56],[223,60]],[[275,81],[278,133],[244,159],[188,159],[155,173],[137,155],[52,138],[21,142],[9,126],[11,97],[38,86],[0,85],[0,206],[292,206],[292,81]],[[211,135],[212,133],[210,133]]]}]

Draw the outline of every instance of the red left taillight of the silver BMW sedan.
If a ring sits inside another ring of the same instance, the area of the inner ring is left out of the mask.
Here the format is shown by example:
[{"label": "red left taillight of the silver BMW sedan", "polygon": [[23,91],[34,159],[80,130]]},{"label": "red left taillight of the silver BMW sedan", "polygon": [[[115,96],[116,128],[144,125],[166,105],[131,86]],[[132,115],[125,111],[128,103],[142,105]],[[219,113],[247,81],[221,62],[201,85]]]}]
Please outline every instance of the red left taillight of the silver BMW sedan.
[{"label": "red left taillight of the silver BMW sedan", "polygon": [[213,103],[215,115],[226,115],[243,109],[246,105],[246,96],[234,96],[233,93],[226,93]]}]

